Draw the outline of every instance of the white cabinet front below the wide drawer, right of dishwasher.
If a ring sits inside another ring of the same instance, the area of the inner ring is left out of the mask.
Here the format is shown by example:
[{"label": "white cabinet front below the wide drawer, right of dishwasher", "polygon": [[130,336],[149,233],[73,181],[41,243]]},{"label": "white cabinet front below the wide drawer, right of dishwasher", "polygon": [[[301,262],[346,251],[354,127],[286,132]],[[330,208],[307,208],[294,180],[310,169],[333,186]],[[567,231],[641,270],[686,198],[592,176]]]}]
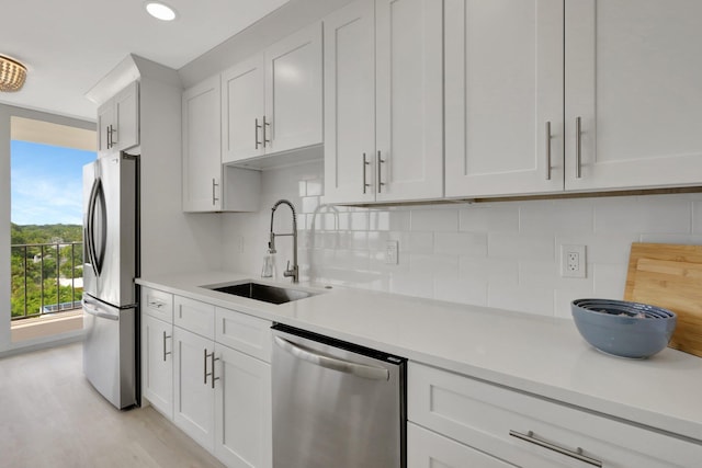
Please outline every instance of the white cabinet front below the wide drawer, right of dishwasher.
[{"label": "white cabinet front below the wide drawer, right of dishwasher", "polygon": [[407,424],[407,468],[513,466],[416,424]]}]

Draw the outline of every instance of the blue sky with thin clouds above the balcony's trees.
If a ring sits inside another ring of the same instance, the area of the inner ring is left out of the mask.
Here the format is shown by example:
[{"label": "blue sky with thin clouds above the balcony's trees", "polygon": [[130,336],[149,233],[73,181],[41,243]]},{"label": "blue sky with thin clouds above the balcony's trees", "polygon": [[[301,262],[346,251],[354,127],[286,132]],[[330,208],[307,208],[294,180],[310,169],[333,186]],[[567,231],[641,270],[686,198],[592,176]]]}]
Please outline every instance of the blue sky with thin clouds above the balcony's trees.
[{"label": "blue sky with thin clouds above the balcony's trees", "polygon": [[81,225],[83,165],[94,151],[11,141],[11,220],[15,225]]}]

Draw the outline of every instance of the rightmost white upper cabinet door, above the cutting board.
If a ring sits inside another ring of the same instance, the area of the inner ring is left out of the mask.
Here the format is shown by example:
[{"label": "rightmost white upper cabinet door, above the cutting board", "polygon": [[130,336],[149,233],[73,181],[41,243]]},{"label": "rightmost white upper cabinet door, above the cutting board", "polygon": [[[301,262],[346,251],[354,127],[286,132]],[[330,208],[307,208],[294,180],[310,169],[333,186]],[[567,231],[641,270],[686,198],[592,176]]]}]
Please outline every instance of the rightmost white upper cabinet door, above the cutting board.
[{"label": "rightmost white upper cabinet door, above the cutting board", "polygon": [[702,2],[566,0],[565,18],[566,190],[699,184]]}]

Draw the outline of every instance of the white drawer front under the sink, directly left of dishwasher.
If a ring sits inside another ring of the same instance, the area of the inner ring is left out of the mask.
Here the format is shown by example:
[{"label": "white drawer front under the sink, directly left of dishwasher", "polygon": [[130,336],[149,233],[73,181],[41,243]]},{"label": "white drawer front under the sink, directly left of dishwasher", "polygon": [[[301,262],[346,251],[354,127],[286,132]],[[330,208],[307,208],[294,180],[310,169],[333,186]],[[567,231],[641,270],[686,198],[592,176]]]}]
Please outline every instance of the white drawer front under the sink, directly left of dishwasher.
[{"label": "white drawer front under the sink, directly left of dishwasher", "polygon": [[235,310],[215,309],[215,341],[271,362],[271,322]]}]

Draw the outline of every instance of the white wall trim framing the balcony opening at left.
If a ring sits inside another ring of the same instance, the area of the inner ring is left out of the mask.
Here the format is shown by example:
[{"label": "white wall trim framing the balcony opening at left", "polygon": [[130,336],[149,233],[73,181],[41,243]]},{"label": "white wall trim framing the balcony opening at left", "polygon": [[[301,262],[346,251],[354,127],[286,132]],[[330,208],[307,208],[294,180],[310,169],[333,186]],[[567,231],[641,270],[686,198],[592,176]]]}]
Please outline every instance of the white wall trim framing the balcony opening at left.
[{"label": "white wall trim framing the balcony opening at left", "polygon": [[[95,124],[92,122],[0,104],[0,355],[9,350],[21,346],[37,346],[43,342],[50,341],[38,340],[12,344],[10,339],[10,119],[12,116],[78,128],[95,128]],[[75,335],[76,333],[68,333],[58,339],[72,339]],[[56,339],[56,336],[53,338],[53,340]]]}]

